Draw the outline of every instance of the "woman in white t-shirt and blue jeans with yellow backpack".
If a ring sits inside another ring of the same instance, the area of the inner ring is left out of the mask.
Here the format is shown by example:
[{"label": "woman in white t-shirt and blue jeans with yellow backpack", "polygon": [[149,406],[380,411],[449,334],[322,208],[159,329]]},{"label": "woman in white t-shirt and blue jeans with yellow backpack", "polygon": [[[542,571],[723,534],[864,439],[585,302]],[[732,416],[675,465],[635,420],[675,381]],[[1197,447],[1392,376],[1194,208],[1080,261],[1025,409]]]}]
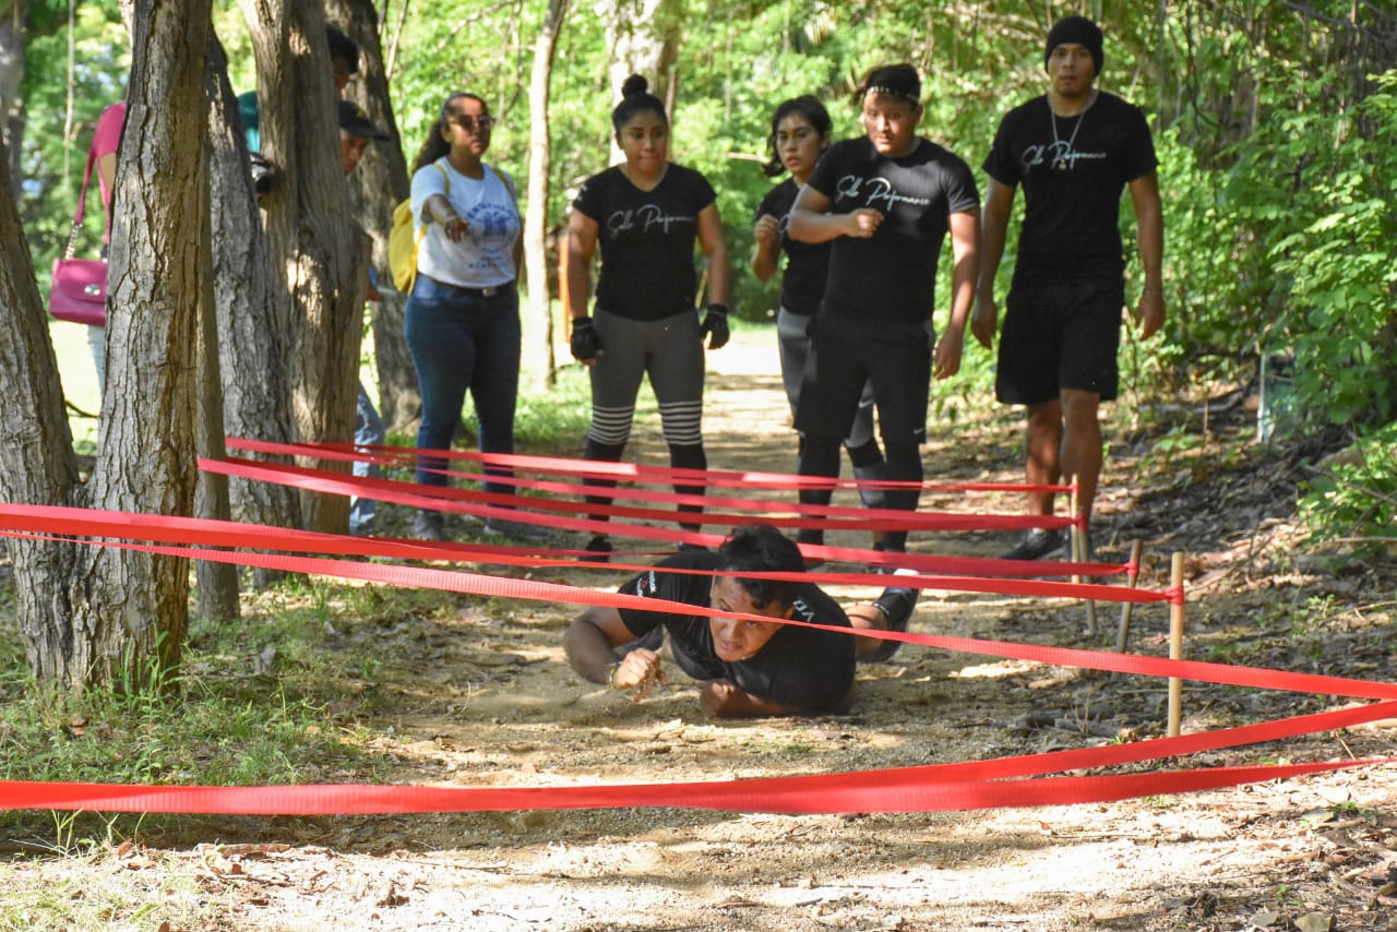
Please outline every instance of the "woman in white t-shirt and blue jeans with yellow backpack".
[{"label": "woman in white t-shirt and blue jeans with yellow backpack", "polygon": [[[483,158],[493,126],[483,99],[453,94],[414,163],[412,215],[420,245],[404,330],[422,393],[418,450],[451,446],[469,390],[481,451],[514,453],[522,224],[513,179]],[[447,485],[444,468],[443,458],[419,457],[418,482]],[[507,475],[509,469],[486,472]],[[514,489],[486,482],[485,490],[509,495]],[[412,530],[420,538],[447,537],[436,510],[419,510]],[[509,537],[531,530],[514,521],[486,523],[486,531]]]}]

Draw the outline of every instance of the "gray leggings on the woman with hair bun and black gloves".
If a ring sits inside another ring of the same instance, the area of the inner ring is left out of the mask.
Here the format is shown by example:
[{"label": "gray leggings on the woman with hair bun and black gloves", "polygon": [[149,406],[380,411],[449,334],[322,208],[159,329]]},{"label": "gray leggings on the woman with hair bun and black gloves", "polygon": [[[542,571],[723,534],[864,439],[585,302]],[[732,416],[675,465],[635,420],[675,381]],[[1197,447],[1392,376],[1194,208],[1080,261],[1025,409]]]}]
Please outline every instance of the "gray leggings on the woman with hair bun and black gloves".
[{"label": "gray leggings on the woman with hair bun and black gloves", "polygon": [[630,320],[598,307],[592,316],[602,354],[591,367],[592,426],[588,440],[624,446],[636,418],[640,380],[659,402],[659,422],[671,446],[703,443],[703,334],[698,313],[664,320]]}]

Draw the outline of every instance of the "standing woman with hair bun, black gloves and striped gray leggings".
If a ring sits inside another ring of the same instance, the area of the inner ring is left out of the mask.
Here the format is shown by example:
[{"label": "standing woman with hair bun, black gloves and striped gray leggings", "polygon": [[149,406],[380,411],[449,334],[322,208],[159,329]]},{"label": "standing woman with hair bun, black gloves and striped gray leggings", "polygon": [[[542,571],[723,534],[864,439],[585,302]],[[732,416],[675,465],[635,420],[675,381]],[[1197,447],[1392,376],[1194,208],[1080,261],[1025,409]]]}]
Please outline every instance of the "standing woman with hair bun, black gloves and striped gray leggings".
[{"label": "standing woman with hair bun, black gloves and striped gray leggings", "polygon": [[[567,225],[567,285],[573,314],[571,351],[591,367],[592,422],[585,457],[619,463],[630,440],[640,380],[659,402],[669,464],[707,468],[703,449],[703,341],[728,342],[728,247],[712,186],[703,175],[669,161],[669,117],[645,78],[631,75],[612,112],[616,144],[626,159],[583,184]],[[694,243],[708,263],[708,305],[694,312],[698,277]],[[594,316],[591,260],[601,245]],[[606,485],[591,481],[590,485]],[[676,485],[703,495],[703,486]],[[608,496],[587,496],[608,503]],[[698,506],[680,506],[697,511]],[[591,517],[605,520],[605,516]],[[687,525],[697,527],[697,525]],[[605,560],[610,539],[597,534],[590,559]]]}]

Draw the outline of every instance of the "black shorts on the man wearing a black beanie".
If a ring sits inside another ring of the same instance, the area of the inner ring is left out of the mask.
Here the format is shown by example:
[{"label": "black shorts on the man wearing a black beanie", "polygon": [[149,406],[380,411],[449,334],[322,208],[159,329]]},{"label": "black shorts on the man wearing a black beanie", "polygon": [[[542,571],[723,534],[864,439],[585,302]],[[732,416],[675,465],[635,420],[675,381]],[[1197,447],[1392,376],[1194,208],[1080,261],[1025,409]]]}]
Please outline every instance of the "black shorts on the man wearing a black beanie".
[{"label": "black shorts on the man wearing a black beanie", "polygon": [[1125,279],[1060,279],[1016,272],[1004,302],[995,395],[1006,404],[1046,404],[1063,388],[1116,397]]}]

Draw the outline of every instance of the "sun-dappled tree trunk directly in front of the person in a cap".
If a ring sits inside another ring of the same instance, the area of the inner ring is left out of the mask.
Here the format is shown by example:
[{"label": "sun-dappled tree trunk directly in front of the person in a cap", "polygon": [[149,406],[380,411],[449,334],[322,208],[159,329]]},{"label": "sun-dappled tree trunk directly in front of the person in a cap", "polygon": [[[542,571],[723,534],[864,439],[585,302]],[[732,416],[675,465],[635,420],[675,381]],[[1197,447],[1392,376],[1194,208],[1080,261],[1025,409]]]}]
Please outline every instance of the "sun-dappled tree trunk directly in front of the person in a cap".
[{"label": "sun-dappled tree trunk directly in front of the person in a cap", "polygon": [[[369,242],[353,222],[339,159],[324,17],[320,4],[293,0],[243,0],[243,13],[257,59],[263,155],[281,168],[264,207],[271,268],[285,270],[278,298],[291,321],[292,415],[305,440],[349,443]],[[349,472],[348,463],[313,465]],[[344,534],[349,499],[305,493],[302,514],[307,528]]]}]

